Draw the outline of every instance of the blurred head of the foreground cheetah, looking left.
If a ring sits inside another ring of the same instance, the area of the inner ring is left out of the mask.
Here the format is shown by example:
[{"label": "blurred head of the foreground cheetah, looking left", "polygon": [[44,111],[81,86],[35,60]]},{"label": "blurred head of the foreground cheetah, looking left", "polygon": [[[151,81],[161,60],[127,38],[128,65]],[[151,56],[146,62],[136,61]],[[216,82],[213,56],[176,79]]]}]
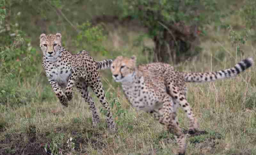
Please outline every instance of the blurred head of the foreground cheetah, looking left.
[{"label": "blurred head of the foreground cheetah, looking left", "polygon": [[111,64],[110,69],[116,82],[132,81],[136,68],[136,57],[124,58],[118,56]]}]

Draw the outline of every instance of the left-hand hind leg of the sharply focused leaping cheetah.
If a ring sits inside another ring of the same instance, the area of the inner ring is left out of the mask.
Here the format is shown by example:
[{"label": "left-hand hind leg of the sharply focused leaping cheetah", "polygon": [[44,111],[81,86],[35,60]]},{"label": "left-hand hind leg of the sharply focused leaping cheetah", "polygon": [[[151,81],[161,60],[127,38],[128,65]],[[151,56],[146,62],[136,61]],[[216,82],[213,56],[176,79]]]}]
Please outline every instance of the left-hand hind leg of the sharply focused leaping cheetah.
[{"label": "left-hand hind leg of the sharply focused leaping cheetah", "polygon": [[79,80],[79,82],[76,83],[76,88],[81,93],[81,96],[84,98],[85,102],[87,102],[90,106],[91,112],[92,112],[92,126],[97,127],[100,122],[100,117],[97,112],[96,106],[94,101],[92,100],[92,97],[89,94],[88,86],[83,81]]}]

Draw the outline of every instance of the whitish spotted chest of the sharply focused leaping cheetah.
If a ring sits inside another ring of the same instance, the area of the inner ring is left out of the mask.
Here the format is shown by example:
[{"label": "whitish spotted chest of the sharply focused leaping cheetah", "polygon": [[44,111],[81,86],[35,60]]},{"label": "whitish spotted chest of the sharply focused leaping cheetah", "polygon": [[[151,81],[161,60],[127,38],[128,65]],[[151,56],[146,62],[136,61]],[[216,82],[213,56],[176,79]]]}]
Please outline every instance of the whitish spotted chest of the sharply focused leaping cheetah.
[{"label": "whitish spotted chest of the sharply focused leaping cheetah", "polygon": [[52,67],[49,71],[52,80],[58,82],[61,88],[65,88],[68,85],[68,79],[71,73],[71,68],[67,66]]}]

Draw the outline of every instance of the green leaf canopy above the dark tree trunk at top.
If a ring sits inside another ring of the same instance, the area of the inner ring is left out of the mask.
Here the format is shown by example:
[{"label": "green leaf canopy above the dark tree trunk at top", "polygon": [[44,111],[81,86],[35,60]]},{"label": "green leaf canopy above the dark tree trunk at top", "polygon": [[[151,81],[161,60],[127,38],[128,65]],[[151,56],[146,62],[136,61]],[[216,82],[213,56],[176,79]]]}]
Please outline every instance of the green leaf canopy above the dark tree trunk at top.
[{"label": "green leaf canopy above the dark tree trunk at top", "polygon": [[209,16],[209,12],[217,10],[217,3],[212,0],[121,0],[117,4],[123,8],[121,17],[132,16],[139,19],[149,28],[151,36],[161,35],[164,30],[158,22],[167,26],[180,21],[205,24],[219,17],[216,14]]}]

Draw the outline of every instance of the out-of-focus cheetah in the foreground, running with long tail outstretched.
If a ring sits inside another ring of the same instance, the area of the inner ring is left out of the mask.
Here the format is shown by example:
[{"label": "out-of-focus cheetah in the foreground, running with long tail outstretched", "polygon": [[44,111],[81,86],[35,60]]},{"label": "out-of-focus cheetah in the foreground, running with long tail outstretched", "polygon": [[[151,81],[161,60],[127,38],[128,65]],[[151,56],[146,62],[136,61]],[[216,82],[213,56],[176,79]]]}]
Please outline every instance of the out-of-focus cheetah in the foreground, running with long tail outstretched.
[{"label": "out-of-focus cheetah in the foreground, running with long tail outstretched", "polygon": [[185,134],[179,127],[177,107],[181,106],[189,119],[189,133],[198,131],[199,125],[186,99],[185,82],[206,82],[234,77],[252,66],[252,58],[247,58],[236,66],[218,72],[184,73],[174,70],[165,63],[150,63],[136,67],[136,57],[118,56],[110,69],[116,82],[121,82],[124,95],[136,110],[150,113],[163,124],[179,145],[179,155],[186,151]]}]

